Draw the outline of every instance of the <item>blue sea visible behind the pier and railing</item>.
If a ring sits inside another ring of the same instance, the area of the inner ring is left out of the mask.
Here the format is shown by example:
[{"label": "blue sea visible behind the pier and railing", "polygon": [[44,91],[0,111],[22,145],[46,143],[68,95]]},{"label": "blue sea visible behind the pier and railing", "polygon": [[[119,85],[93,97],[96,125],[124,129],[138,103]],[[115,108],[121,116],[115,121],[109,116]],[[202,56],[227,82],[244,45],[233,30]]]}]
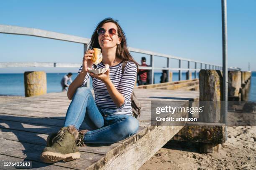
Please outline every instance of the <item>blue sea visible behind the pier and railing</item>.
[{"label": "blue sea visible behind the pier and railing", "polygon": [[[67,73],[46,73],[47,80],[47,93],[60,92],[61,78]],[[73,73],[72,80],[77,76],[77,73]],[[192,72],[192,78],[194,78],[194,72]],[[198,78],[197,73],[197,78]],[[160,82],[161,72],[154,73],[155,83]],[[179,80],[179,73],[173,72],[172,81]],[[186,80],[186,73],[182,73],[182,80]],[[92,82],[92,81],[91,81]],[[92,85],[91,85],[92,87]],[[23,73],[2,73],[0,74],[0,95],[19,95],[25,96],[24,87],[24,75]],[[252,72],[251,77],[251,89],[249,92],[249,101],[256,101],[256,72]]]}]

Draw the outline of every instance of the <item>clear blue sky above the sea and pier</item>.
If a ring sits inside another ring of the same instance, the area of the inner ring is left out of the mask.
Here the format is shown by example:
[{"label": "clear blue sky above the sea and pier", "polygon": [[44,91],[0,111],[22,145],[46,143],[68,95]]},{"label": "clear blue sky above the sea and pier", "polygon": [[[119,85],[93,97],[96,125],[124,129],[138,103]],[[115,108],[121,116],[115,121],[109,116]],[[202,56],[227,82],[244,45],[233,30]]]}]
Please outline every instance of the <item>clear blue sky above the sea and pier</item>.
[{"label": "clear blue sky above the sea and pier", "polygon": [[[256,0],[228,0],[228,66],[256,70]],[[222,64],[221,0],[1,0],[0,24],[90,38],[97,23],[119,20],[131,47]],[[134,55],[136,60],[143,55]],[[0,34],[0,62],[82,63],[83,46]],[[156,59],[156,66],[166,66]],[[178,67],[177,61],[172,67]],[[184,63],[184,67],[187,63]],[[78,68],[0,68],[2,72],[77,72]]]}]

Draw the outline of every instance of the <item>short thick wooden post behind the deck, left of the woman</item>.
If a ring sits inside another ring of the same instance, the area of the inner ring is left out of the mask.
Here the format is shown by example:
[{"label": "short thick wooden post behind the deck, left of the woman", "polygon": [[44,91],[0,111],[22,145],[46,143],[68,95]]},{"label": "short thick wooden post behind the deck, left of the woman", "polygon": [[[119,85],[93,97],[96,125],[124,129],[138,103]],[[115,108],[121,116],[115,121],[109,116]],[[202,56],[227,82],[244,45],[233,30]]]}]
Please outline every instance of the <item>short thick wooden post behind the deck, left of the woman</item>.
[{"label": "short thick wooden post behind the deck, left of the woman", "polygon": [[46,73],[44,71],[24,72],[25,96],[46,94]]}]

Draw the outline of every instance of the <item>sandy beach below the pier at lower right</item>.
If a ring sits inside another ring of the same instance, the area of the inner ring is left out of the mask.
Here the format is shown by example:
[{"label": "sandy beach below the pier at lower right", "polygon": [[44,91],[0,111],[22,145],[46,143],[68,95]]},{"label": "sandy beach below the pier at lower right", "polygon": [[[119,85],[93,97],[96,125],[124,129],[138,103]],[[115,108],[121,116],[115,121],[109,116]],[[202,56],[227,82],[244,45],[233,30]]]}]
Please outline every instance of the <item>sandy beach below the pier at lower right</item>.
[{"label": "sandy beach below the pier at lower right", "polygon": [[169,141],[139,170],[255,170],[256,126],[229,126],[219,153],[201,154],[197,145]]}]

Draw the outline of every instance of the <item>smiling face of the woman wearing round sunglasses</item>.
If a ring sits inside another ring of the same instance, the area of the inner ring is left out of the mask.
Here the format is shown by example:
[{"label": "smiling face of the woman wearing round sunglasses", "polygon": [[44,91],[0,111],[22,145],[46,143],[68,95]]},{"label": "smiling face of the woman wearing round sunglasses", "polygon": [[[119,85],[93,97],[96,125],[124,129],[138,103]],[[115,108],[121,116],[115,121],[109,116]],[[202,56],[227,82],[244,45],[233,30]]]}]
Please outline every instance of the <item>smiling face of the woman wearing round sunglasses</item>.
[{"label": "smiling face of the woman wearing round sunglasses", "polygon": [[[113,48],[117,44],[120,44],[121,38],[118,37],[118,28],[114,23],[105,23],[102,25],[102,28],[106,30],[105,34],[98,36],[99,44],[102,49]],[[116,30],[115,35],[109,34],[108,30],[111,28]]]}]

